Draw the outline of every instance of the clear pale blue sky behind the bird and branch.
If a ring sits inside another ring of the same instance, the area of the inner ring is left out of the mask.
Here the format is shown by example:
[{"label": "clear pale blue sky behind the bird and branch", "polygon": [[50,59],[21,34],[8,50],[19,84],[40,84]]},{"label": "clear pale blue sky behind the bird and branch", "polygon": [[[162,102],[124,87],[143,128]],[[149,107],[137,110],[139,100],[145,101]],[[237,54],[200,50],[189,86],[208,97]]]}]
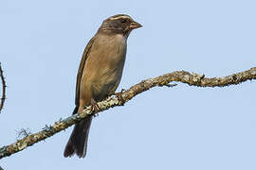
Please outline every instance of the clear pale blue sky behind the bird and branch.
[{"label": "clear pale blue sky behind the bird and branch", "polygon": [[[143,25],[128,40],[120,89],[176,70],[228,76],[256,66],[253,0],[1,0],[0,61],[8,83],[0,145],[69,116],[85,44],[114,14]],[[256,81],[178,83],[93,120],[85,159],[63,157],[73,127],[0,161],[4,169],[256,169]]]}]

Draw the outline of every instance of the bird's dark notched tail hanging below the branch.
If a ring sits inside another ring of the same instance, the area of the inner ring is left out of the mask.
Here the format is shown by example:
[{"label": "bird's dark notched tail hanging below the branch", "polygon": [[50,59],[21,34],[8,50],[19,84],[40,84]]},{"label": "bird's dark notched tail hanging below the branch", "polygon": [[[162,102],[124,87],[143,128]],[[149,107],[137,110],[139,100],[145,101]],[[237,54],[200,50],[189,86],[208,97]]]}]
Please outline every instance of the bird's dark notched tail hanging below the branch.
[{"label": "bird's dark notched tail hanging below the branch", "polygon": [[[73,113],[76,113],[77,110],[78,108],[75,108]],[[64,157],[72,157],[74,154],[77,154],[79,158],[85,157],[91,122],[92,116],[87,116],[84,120],[75,125],[73,132],[65,145]]]}]

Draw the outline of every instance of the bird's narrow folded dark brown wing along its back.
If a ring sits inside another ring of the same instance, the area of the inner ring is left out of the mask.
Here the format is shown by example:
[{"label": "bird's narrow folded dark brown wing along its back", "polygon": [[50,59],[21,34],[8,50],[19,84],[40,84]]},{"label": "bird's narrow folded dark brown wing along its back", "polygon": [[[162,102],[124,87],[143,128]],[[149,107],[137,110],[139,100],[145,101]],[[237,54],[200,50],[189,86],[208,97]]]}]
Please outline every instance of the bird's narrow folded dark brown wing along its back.
[{"label": "bird's narrow folded dark brown wing along its back", "polygon": [[82,59],[80,61],[80,66],[79,66],[79,70],[78,70],[78,75],[77,75],[77,85],[76,85],[76,100],[75,100],[75,104],[76,107],[79,107],[79,100],[80,100],[80,84],[81,84],[81,78],[82,78],[82,71],[83,71],[83,67],[85,65],[85,61],[88,58],[89,54],[90,54],[90,50],[92,47],[92,44],[95,40],[95,37],[93,37],[90,42],[87,43],[83,53],[82,53]]}]

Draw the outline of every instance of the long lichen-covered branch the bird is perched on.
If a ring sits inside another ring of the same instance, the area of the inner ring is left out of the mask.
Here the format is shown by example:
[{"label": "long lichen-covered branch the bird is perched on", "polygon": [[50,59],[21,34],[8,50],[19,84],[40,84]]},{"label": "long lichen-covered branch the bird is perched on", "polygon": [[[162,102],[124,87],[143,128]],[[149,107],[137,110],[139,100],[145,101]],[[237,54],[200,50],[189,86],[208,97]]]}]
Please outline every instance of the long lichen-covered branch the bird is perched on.
[{"label": "long lichen-covered branch the bird is perched on", "polygon": [[[252,79],[256,79],[256,67],[253,67],[245,72],[233,74],[230,76],[212,78],[207,78],[204,75],[200,76],[197,74],[190,74],[186,71],[176,71],[163,76],[156,76],[154,78],[142,80],[140,83],[132,86],[129,90],[120,93],[122,100],[119,100],[118,96],[110,96],[104,101],[99,102],[98,105],[101,111],[108,110],[116,106],[122,106],[124,103],[128,102],[134,96],[136,96],[138,93],[148,91],[155,86],[170,87],[169,83],[173,81],[183,82],[191,86],[197,87],[224,87],[239,84],[241,82]],[[87,116],[87,114],[91,114],[91,106],[85,108],[82,113],[73,114],[72,116],[69,116],[64,120],[55,122],[52,126],[46,126],[42,131],[30,134],[22,140],[18,140],[13,144],[1,147],[0,159],[8,157],[16,152],[22,151],[23,149],[27,148],[27,146],[45,140],[46,138],[53,136],[54,134],[64,130],[65,128],[71,127],[72,125],[80,122],[84,117]]]}]

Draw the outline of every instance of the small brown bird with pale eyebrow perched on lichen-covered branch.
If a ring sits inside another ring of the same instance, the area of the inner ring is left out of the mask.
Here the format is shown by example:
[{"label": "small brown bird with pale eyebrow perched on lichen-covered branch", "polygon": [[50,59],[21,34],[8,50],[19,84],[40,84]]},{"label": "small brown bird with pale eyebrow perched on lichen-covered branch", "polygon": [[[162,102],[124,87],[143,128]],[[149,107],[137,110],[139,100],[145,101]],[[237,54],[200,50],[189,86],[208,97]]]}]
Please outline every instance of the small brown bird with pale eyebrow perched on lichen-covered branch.
[{"label": "small brown bird with pale eyebrow perched on lichen-covered branch", "polygon": [[[127,14],[113,15],[102,22],[82,53],[73,114],[81,113],[90,105],[97,109],[97,102],[116,92],[126,58],[128,36],[139,27],[141,25]],[[85,157],[92,119],[90,114],[75,125],[65,145],[64,157],[74,154]]]}]

